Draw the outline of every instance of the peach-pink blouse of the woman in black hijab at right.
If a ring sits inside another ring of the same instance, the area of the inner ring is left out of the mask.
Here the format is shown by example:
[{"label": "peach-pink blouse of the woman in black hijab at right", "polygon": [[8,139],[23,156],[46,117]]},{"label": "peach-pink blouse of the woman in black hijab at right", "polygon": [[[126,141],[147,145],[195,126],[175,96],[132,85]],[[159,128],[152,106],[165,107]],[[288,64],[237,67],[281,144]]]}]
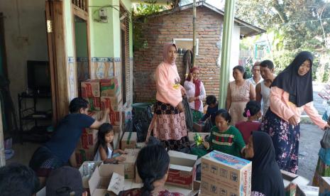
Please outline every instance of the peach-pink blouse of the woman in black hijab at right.
[{"label": "peach-pink blouse of the woman in black hijab at right", "polygon": [[297,122],[300,122],[300,116],[302,111],[305,111],[309,118],[312,119],[314,124],[323,129],[326,126],[326,121],[321,119],[317,109],[314,108],[313,102],[309,102],[302,107],[297,107],[295,104],[289,101],[289,93],[285,92],[279,87],[270,88],[270,109],[281,119],[288,121],[291,116],[295,115]]}]

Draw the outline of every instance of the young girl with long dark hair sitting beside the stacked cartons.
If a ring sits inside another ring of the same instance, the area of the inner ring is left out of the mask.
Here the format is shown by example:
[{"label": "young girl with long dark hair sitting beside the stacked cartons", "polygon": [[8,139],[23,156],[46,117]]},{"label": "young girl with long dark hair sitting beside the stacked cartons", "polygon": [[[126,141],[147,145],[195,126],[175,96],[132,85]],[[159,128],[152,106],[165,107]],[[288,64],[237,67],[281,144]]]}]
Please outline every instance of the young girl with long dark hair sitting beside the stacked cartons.
[{"label": "young girl with long dark hair sitting beside the stacked cartons", "polygon": [[97,134],[97,145],[95,148],[96,154],[94,161],[103,160],[104,163],[117,163],[125,160],[123,156],[117,156],[112,158],[113,153],[124,154],[125,151],[121,149],[114,150],[114,129],[109,123],[104,123],[99,127],[99,133]]}]

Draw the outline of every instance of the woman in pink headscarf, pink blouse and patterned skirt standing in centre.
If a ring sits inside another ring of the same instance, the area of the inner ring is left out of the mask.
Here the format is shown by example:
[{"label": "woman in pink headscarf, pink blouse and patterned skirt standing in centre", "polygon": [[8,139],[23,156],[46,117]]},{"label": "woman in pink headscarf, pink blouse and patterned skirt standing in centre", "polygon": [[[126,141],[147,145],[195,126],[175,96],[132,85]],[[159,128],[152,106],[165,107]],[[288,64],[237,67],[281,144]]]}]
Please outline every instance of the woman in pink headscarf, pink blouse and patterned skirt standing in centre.
[{"label": "woman in pink headscarf, pink blouse and patterned skirt standing in centre", "polygon": [[174,43],[165,44],[163,58],[155,71],[157,101],[149,130],[153,129],[153,136],[160,139],[166,148],[180,150],[189,146],[189,138],[182,104],[185,88],[180,85],[175,65],[177,46]]}]

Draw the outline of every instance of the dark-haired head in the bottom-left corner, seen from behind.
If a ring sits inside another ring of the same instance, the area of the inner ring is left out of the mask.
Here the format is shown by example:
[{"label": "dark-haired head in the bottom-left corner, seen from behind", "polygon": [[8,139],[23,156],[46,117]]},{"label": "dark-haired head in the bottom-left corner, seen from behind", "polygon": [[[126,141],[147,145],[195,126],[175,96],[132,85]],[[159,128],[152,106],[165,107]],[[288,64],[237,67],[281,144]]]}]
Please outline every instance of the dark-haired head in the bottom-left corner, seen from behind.
[{"label": "dark-haired head in the bottom-left corner, seen from behind", "polygon": [[0,195],[35,195],[39,180],[34,171],[26,165],[11,163],[0,168]]}]

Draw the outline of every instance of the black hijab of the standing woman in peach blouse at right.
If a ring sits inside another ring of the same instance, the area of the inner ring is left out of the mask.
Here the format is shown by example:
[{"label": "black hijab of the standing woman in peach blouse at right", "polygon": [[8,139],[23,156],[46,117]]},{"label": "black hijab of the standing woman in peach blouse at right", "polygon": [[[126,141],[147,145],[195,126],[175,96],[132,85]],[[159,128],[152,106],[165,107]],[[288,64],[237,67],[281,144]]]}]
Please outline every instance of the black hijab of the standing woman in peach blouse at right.
[{"label": "black hijab of the standing woman in peach blouse at right", "polygon": [[[302,65],[305,60],[309,60],[311,62],[311,69],[307,72],[307,74],[301,76],[298,74],[298,70],[300,65]],[[289,101],[297,105],[297,107],[302,107],[304,104],[312,102],[312,65],[312,53],[307,51],[298,53],[291,64],[287,66],[285,70],[280,72],[279,75],[277,75],[270,87],[279,87],[285,92],[288,92],[290,94]]]}]

